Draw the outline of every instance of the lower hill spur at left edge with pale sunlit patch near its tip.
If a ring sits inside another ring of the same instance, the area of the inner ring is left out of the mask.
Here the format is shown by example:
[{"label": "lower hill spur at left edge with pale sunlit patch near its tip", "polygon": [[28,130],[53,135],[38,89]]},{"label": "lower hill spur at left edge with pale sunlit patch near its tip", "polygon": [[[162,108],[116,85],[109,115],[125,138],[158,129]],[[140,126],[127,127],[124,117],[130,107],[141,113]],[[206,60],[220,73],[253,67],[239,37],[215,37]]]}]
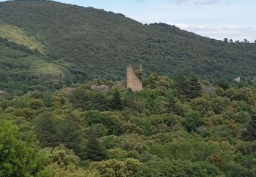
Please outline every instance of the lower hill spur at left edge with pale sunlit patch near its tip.
[{"label": "lower hill spur at left edge with pale sunlit patch near its tip", "polygon": [[[0,37],[0,90],[15,93],[57,86],[66,69],[50,57]],[[1,95],[0,95],[1,96]]]}]

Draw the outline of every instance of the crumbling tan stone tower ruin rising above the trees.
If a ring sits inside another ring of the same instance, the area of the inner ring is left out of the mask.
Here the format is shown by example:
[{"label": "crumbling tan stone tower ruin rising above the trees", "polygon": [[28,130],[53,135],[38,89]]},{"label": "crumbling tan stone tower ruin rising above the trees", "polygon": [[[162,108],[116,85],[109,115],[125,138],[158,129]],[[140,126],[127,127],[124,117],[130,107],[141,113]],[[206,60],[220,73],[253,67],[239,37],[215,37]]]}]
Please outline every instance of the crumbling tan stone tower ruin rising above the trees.
[{"label": "crumbling tan stone tower ruin rising above the trees", "polygon": [[[142,71],[142,65],[139,65],[139,69]],[[126,88],[132,88],[132,91],[142,90],[142,82],[136,76],[132,65],[127,65],[126,67]]]}]

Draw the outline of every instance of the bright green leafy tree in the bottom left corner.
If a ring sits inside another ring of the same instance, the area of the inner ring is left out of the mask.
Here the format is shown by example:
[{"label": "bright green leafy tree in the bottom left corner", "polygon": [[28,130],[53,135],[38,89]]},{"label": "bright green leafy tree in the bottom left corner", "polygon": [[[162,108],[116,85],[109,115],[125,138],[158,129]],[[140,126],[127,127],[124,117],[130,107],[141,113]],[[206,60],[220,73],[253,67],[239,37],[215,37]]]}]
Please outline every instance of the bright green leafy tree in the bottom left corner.
[{"label": "bright green leafy tree in the bottom left corner", "polygon": [[0,122],[0,176],[37,176],[47,158],[35,140],[26,137],[10,121]]}]

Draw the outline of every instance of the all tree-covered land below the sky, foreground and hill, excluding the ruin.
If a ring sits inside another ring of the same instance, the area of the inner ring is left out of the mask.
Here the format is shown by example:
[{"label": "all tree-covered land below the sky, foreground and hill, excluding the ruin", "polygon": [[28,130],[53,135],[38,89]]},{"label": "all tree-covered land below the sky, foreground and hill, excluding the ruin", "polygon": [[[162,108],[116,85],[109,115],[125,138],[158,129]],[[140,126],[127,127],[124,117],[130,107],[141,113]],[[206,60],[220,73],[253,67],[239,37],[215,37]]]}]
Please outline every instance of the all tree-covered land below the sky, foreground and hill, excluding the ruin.
[{"label": "all tree-covered land below the sky, foreground and hill, excluding the ruin", "polygon": [[0,176],[256,176],[256,44],[6,1],[0,66]]}]

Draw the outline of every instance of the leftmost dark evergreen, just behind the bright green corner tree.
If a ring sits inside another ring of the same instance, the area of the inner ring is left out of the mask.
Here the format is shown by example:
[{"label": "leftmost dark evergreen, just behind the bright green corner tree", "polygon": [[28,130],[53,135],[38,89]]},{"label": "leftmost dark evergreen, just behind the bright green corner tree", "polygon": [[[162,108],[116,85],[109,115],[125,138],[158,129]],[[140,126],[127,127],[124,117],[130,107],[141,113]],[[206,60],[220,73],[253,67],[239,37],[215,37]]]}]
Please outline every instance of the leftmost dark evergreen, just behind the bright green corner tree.
[{"label": "leftmost dark evergreen, just behind the bright green corner tree", "polygon": [[59,145],[59,129],[50,112],[45,112],[36,120],[35,134],[42,148]]}]

